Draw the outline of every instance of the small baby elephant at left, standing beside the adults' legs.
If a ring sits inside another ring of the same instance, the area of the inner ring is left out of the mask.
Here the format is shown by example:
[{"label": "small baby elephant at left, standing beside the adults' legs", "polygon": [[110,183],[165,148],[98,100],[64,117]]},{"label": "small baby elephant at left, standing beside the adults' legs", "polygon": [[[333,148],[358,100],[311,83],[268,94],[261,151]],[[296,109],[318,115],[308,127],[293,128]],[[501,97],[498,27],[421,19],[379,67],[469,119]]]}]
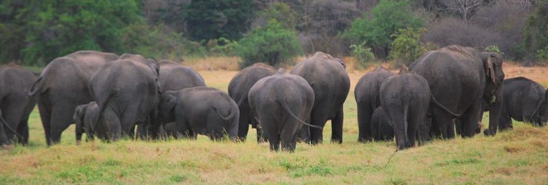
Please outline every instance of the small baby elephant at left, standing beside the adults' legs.
[{"label": "small baby elephant at left, standing beside the adults' legs", "polygon": [[[88,139],[93,139],[95,134],[102,140],[117,140],[121,137],[121,125],[112,121],[116,118],[114,112],[104,111],[98,121],[97,116],[99,116],[99,106],[95,101],[75,108],[73,119],[76,123],[77,143],[82,140],[84,131]],[[97,121],[97,125],[95,121]]]}]

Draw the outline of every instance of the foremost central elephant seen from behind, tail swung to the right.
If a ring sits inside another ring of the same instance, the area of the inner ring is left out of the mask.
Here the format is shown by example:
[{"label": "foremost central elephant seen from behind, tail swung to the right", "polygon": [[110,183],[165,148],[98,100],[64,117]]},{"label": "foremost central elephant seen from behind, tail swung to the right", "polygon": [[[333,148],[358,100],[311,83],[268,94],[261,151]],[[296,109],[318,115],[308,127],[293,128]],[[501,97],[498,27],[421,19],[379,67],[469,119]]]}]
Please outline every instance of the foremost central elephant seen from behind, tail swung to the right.
[{"label": "foremost central elephant seen from behind, tail swung to the right", "polygon": [[310,125],[308,119],[314,106],[314,90],[306,79],[286,73],[281,68],[269,77],[260,79],[249,90],[249,108],[256,113],[270,149],[295,151],[297,136],[303,125],[321,130],[322,127]]}]

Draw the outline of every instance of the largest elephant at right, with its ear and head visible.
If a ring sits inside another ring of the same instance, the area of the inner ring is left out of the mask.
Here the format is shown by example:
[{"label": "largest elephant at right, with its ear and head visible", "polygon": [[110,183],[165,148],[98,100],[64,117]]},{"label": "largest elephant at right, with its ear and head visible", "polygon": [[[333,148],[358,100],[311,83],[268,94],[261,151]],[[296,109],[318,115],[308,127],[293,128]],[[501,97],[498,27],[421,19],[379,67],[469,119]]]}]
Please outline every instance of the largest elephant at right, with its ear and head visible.
[{"label": "largest elephant at right, with its ear and head visible", "polygon": [[[471,137],[481,119],[484,100],[491,108],[489,128],[484,134],[497,132],[503,101],[502,64],[498,53],[451,45],[428,51],[411,64],[410,70],[425,77],[435,99],[461,115],[458,117],[461,136]],[[438,107],[430,111],[434,136],[454,138],[454,116]]]}]

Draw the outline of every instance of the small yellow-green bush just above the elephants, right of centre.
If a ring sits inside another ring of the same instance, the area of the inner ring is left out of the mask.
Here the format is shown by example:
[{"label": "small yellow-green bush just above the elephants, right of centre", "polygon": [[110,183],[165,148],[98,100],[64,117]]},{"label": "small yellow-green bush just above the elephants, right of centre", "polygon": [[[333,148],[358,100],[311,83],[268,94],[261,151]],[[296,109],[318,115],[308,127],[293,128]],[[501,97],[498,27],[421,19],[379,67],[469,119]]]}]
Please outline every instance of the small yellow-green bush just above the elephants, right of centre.
[{"label": "small yellow-green bush just above the elephants, right of centre", "polygon": [[422,30],[413,28],[399,29],[397,33],[393,34],[394,42],[392,42],[392,50],[390,51],[390,60],[393,67],[397,67],[400,64],[406,64],[409,66],[417,58],[423,55],[427,48],[423,47],[423,44],[419,40],[421,38]]}]

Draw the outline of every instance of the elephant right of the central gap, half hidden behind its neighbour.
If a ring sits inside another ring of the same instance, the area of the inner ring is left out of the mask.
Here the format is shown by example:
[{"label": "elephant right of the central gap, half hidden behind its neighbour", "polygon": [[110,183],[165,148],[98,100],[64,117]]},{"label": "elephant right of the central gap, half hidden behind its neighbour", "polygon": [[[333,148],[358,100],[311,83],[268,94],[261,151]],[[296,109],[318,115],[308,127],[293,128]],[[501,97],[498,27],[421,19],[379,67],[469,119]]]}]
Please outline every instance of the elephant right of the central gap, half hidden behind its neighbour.
[{"label": "elephant right of the central gap, half hidden behind its neighbour", "polygon": [[358,106],[358,142],[371,141],[375,135],[371,132],[371,115],[381,106],[379,88],[382,82],[392,75],[394,73],[383,66],[377,66],[375,70],[363,75],[356,84],[354,96]]}]

